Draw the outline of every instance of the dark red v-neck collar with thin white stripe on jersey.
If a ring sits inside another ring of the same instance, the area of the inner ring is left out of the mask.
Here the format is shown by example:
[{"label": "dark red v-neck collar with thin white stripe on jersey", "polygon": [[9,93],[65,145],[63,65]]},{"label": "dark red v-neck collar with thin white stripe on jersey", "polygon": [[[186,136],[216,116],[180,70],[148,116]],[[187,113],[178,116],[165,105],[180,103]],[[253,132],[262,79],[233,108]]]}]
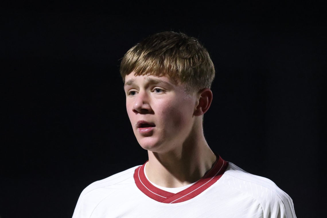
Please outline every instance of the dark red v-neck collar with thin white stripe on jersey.
[{"label": "dark red v-neck collar with thin white stripe on jersey", "polygon": [[180,203],[194,198],[195,196],[209,188],[211,185],[213,185],[224,174],[227,166],[228,162],[226,162],[225,160],[220,158],[220,156],[217,155],[215,165],[207,174],[205,174],[192,186],[176,194],[164,191],[152,185],[146,179],[146,176],[144,174],[145,164],[136,168],[134,172],[134,180],[139,190],[141,190],[148,197],[162,203]]}]

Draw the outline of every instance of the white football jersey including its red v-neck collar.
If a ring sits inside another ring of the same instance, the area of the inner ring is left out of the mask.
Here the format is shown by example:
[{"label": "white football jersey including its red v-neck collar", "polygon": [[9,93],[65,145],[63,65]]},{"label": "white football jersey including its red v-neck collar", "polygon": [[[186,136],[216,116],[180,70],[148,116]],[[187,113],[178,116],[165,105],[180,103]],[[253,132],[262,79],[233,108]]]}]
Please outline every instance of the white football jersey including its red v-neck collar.
[{"label": "white football jersey including its red v-neck collar", "polygon": [[178,193],[153,186],[144,165],[96,181],[81,193],[73,218],[296,217],[292,199],[271,180],[217,159],[204,177]]}]

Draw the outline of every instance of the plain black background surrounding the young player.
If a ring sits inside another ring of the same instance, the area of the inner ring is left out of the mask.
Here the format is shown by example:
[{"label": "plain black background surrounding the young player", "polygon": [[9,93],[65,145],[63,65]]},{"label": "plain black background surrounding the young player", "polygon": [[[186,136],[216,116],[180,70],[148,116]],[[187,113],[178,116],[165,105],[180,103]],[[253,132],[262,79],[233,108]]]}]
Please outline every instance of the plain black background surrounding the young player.
[{"label": "plain black background surrounding the young player", "polygon": [[71,217],[88,184],[143,164],[120,59],[165,30],[197,37],[216,68],[205,137],[273,180],[298,217],[326,206],[326,16],[317,3],[29,1],[1,7],[0,216]]}]

